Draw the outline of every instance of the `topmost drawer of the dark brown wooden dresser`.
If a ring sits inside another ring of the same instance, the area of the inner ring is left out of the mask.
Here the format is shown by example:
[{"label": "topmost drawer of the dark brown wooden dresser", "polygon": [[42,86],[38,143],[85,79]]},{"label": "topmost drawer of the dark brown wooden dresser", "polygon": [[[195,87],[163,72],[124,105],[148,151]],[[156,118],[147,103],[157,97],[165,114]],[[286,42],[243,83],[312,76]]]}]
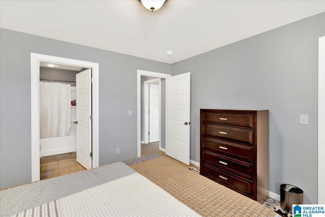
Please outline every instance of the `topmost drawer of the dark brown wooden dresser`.
[{"label": "topmost drawer of the dark brown wooden dresser", "polygon": [[252,114],[206,112],[204,113],[203,121],[221,125],[233,125],[247,128],[253,127]]}]

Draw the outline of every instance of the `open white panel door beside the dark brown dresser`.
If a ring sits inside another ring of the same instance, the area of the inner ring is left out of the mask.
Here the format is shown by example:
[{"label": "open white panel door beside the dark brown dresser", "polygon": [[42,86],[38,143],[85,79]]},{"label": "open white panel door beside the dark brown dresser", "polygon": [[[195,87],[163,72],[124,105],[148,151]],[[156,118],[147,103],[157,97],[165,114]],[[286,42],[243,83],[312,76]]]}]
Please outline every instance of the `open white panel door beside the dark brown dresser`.
[{"label": "open white panel door beside the dark brown dresser", "polygon": [[166,79],[166,154],[189,165],[190,73]]}]

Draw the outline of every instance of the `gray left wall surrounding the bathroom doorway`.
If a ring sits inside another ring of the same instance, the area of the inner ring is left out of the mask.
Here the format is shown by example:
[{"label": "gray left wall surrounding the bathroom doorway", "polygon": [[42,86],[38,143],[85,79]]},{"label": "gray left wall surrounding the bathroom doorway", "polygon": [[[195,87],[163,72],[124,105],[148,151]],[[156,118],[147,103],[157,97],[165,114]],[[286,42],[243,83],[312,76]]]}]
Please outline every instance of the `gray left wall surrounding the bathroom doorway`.
[{"label": "gray left wall surrounding the bathroom doorway", "polygon": [[4,28],[0,47],[1,189],[31,180],[30,53],[99,63],[100,165],[137,157],[137,70],[171,65]]}]

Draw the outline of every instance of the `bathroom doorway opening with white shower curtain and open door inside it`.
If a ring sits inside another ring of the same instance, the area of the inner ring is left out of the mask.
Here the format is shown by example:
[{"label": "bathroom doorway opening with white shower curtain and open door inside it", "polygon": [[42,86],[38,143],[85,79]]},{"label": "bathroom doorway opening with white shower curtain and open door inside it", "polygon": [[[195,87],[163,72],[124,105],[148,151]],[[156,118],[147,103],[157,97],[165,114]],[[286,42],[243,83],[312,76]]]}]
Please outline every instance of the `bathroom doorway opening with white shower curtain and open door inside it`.
[{"label": "bathroom doorway opening with white shower curtain and open door inside it", "polygon": [[[89,72],[87,73],[87,71]],[[82,115],[84,111],[91,113],[91,83],[88,85],[86,82],[85,88],[80,88],[82,83],[78,82],[77,84],[76,78],[80,78],[82,74],[86,74],[86,76],[89,74],[88,77],[91,77],[91,69],[40,62],[41,180],[91,168],[88,154],[83,156],[81,151],[87,149],[87,147],[83,147],[88,145],[85,142],[91,138],[91,125],[83,126],[83,130],[87,129],[85,135],[82,134],[78,126],[78,120],[79,125],[84,125],[81,122],[82,119],[88,122],[87,118],[80,117],[80,114]],[[78,80],[80,81],[80,79]],[[85,91],[80,94],[80,91],[85,89],[86,92],[90,92],[90,97],[85,96]],[[79,100],[83,100],[80,98],[82,96],[90,99],[90,106],[83,110],[80,109],[79,103]],[[89,120],[90,122],[91,120]]]}]

